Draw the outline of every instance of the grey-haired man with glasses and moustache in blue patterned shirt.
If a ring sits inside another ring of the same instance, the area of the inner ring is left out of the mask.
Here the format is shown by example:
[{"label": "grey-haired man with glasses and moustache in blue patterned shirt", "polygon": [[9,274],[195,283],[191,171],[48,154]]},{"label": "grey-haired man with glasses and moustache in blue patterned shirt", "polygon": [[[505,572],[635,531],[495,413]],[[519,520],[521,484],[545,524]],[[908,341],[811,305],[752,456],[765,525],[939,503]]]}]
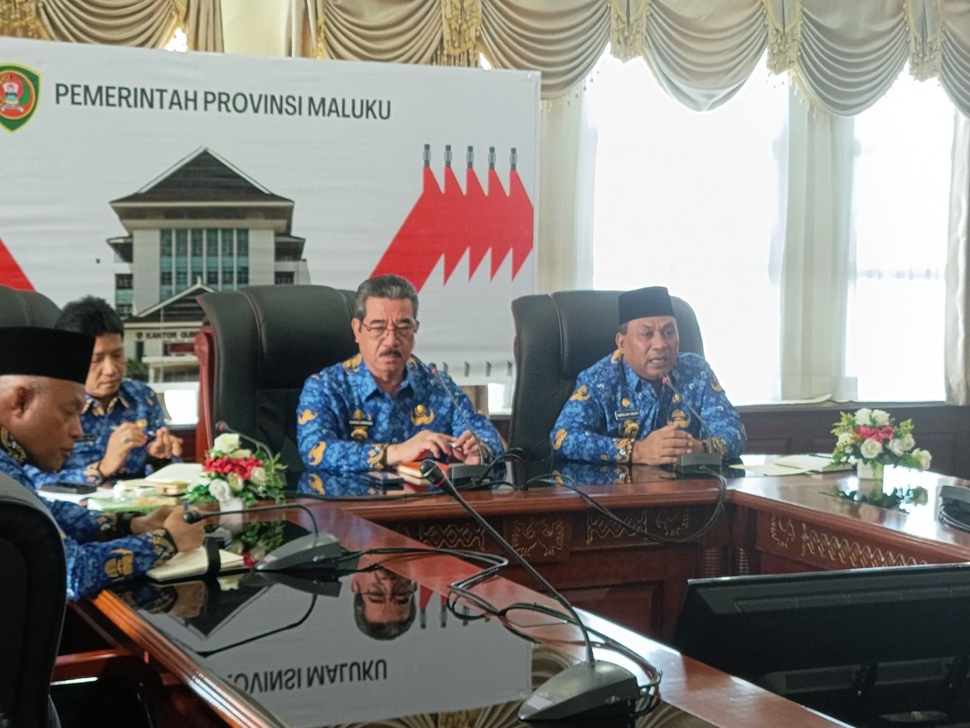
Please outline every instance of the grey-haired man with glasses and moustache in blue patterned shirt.
[{"label": "grey-haired man with glasses and moustache in blue patterned shirt", "polygon": [[[469,397],[441,374],[463,418],[432,370],[411,356],[418,297],[410,283],[397,275],[366,280],[354,309],[360,354],[311,374],[300,395],[297,445],[307,478],[428,456],[477,463],[501,453],[499,433]],[[466,419],[489,452],[478,452]]]}]

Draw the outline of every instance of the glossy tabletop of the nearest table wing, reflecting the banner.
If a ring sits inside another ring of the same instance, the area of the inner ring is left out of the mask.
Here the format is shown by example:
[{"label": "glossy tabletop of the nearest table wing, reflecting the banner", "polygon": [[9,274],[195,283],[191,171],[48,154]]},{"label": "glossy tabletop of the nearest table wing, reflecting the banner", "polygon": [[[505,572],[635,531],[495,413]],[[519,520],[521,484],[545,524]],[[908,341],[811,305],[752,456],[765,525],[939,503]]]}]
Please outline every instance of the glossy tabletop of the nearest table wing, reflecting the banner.
[{"label": "glossy tabletop of the nearest table wing, reflecting the banner", "polygon": [[[338,536],[345,548],[419,546],[335,505],[307,501],[307,506],[319,528]],[[286,515],[309,525],[300,511]],[[395,585],[391,591],[409,595],[407,588],[415,589],[418,615],[396,639],[375,640],[358,627],[353,614],[358,577],[350,575],[340,580],[339,593],[328,595],[223,577],[221,586],[135,584],[82,606],[107,617],[133,649],[144,650],[147,659],[239,726],[367,725],[385,719],[394,726],[514,726],[533,682],[581,653],[578,632],[550,617],[516,612],[508,619],[509,631],[494,618],[443,613],[440,595],[477,570],[466,561],[440,554],[380,558],[385,581]],[[522,601],[554,606],[502,578],[475,590],[498,607]],[[600,617],[588,619],[663,671],[663,705],[638,725],[837,724]],[[623,661],[645,681],[642,664],[610,649],[598,649],[598,655]]]}]

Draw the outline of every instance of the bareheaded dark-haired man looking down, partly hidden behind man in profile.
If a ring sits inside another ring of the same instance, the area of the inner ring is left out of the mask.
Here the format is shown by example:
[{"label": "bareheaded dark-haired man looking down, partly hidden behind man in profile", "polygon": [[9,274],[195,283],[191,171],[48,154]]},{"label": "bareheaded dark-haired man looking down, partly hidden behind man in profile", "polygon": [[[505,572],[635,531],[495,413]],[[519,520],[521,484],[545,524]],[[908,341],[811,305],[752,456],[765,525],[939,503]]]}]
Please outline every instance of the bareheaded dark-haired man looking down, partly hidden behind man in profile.
[{"label": "bareheaded dark-haired man looking down, partly hidden behind man in profile", "polygon": [[107,301],[88,296],[68,303],[54,328],[95,337],[84,382],[84,434],[59,472],[28,469],[34,485],[143,478],[178,460],[181,440],[165,427],[158,396],[146,384],[124,376],[124,326]]}]

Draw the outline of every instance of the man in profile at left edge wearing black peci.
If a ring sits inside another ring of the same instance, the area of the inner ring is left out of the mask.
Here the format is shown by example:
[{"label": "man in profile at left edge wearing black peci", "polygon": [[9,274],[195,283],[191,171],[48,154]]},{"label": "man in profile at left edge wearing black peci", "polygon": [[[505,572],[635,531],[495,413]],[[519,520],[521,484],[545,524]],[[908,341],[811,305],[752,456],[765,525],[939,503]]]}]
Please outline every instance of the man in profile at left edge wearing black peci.
[{"label": "man in profile at left edge wearing black peci", "polygon": [[[81,436],[81,385],[93,343],[74,332],[0,329],[0,473],[25,488],[33,490],[28,466],[57,470]],[[181,506],[139,516],[41,500],[64,534],[69,599],[143,575],[202,545],[203,524],[182,522]]]}]

